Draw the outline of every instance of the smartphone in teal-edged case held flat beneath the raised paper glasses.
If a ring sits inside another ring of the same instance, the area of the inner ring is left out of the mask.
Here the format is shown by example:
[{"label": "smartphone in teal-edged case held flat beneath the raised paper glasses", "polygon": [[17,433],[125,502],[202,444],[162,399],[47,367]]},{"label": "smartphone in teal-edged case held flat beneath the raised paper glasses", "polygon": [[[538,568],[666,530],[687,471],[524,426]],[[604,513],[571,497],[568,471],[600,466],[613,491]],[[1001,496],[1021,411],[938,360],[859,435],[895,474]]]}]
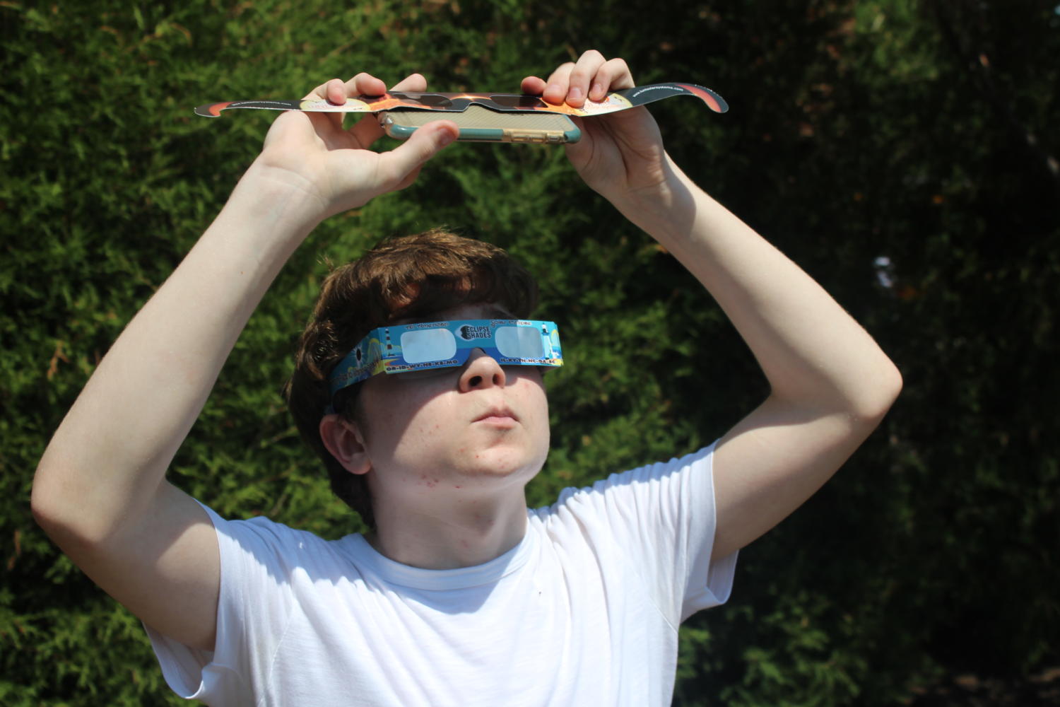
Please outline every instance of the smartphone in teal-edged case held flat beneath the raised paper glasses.
[{"label": "smartphone in teal-edged case held flat beneath the raised paper glasses", "polygon": [[379,113],[379,125],[391,138],[408,139],[416,128],[430,121],[450,120],[460,127],[457,140],[464,142],[533,142],[560,145],[578,142],[582,131],[563,113],[500,112],[470,105],[459,112],[439,110],[390,110]]}]

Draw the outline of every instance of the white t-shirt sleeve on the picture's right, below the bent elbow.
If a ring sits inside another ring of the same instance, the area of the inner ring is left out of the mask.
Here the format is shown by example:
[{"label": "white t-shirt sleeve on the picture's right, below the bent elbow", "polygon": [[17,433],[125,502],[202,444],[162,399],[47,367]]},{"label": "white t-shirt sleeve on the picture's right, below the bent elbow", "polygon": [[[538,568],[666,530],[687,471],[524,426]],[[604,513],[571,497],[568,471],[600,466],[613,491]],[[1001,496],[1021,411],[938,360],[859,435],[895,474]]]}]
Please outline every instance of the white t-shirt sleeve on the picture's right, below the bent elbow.
[{"label": "white t-shirt sleeve on the picture's right, below the bent elbow", "polygon": [[737,553],[713,556],[714,444],[679,459],[613,474],[567,490],[559,509],[578,517],[597,552],[618,553],[673,625],[725,603]]}]

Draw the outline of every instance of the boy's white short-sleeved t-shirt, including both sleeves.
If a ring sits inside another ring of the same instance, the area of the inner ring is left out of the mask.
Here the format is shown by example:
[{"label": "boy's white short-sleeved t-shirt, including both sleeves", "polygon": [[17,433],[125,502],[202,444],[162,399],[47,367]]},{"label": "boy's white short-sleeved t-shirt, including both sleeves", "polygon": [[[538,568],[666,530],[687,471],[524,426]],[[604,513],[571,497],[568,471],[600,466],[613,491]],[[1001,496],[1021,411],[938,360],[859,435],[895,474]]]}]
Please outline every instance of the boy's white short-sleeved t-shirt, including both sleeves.
[{"label": "boy's white short-sleeved t-shirt, including both sleeves", "polygon": [[209,705],[669,705],[677,626],[728,599],[712,447],[567,489],[483,565],[429,570],[265,518],[208,512],[217,641],[148,629],[170,687]]}]

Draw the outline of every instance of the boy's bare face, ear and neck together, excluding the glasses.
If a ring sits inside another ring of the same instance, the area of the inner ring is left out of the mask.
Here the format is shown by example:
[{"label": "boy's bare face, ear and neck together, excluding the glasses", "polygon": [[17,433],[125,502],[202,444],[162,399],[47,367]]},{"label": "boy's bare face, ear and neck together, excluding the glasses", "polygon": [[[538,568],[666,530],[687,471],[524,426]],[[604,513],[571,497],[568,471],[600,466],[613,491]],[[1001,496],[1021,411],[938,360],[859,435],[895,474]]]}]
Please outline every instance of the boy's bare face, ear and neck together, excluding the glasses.
[{"label": "boy's bare face, ear and neck together, excluding the glasses", "polygon": [[[506,316],[463,305],[436,320]],[[352,474],[367,474],[372,545],[405,564],[481,564],[526,530],[524,489],[545,463],[548,401],[541,369],[501,367],[481,350],[459,368],[381,374],[361,385],[355,422],[321,435]]]}]

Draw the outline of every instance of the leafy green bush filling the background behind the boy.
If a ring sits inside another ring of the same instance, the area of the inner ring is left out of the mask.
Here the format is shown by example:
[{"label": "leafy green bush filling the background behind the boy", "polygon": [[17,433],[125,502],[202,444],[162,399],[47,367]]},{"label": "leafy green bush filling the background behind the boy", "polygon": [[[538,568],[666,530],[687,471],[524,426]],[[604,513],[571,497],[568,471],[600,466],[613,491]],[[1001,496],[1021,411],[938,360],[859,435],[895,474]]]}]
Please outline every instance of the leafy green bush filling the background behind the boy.
[{"label": "leafy green bush filling the background behind the boy", "polygon": [[[191,108],[361,69],[517,90],[590,47],[638,83],[728,99],[726,116],[657,104],[669,149],[906,381],[835,480],[744,552],[730,604],[684,626],[675,704],[889,705],[948,674],[1056,665],[1054,4],[0,2],[0,703],[177,703],[139,623],[37,530],[29,492],[64,411],[271,118]],[[549,376],[554,448],[532,503],[708,443],[763,394],[709,298],[561,151],[459,145],[294,257],[173,478],[222,514],[357,529],[279,389],[326,262],[438,224],[511,249],[563,324],[570,365]]]}]

